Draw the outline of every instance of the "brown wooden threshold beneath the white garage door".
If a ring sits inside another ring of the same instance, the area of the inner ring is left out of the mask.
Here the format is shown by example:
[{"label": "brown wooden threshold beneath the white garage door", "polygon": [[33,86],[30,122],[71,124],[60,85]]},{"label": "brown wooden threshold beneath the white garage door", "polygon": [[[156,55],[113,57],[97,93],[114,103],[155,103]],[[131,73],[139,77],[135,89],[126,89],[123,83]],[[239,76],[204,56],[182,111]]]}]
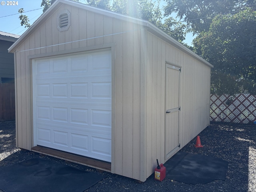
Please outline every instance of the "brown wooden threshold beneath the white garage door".
[{"label": "brown wooden threshold beneath the white garage door", "polygon": [[70,154],[68,152],[54,150],[54,149],[46,148],[46,147],[42,147],[42,146],[32,147],[31,150],[34,152],[48,155],[48,156],[60,158],[60,159],[67,160],[70,162],[82,164],[82,165],[85,165],[88,167],[111,172],[111,163],[108,163],[108,162],[104,162],[104,161],[100,161],[100,160],[96,160],[96,159],[92,159],[92,158],[87,158],[87,157],[79,156],[79,155],[75,155],[75,154]]}]

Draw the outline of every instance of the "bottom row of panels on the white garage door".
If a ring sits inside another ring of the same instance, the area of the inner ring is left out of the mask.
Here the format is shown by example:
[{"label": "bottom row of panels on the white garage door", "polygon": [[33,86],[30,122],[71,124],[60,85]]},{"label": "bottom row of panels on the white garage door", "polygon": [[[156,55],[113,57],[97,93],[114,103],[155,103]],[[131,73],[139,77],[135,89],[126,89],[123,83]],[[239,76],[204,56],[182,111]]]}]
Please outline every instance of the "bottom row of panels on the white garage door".
[{"label": "bottom row of panels on the white garage door", "polygon": [[105,161],[110,161],[111,159],[111,135],[92,132],[88,132],[85,135],[81,131],[68,133],[44,128],[39,128],[39,130],[38,145],[79,155],[90,153],[90,157]]}]

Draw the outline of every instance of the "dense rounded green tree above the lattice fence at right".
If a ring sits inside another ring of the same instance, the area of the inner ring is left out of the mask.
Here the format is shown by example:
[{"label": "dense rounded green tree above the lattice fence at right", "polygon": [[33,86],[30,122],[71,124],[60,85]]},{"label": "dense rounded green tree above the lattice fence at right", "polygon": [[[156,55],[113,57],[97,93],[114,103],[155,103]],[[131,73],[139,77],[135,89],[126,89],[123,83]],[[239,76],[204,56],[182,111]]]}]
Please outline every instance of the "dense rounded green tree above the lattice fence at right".
[{"label": "dense rounded green tree above the lattice fence at right", "polygon": [[194,51],[214,65],[212,93],[256,94],[256,11],[219,14],[193,44]]}]

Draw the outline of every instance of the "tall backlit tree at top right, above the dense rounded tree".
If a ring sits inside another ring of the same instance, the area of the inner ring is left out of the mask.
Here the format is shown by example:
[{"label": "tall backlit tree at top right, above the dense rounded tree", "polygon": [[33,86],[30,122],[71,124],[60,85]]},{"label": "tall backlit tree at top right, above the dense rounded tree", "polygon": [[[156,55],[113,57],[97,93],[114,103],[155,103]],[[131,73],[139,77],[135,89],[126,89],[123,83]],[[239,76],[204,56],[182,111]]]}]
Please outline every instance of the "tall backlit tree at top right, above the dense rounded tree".
[{"label": "tall backlit tree at top right, above the dense rounded tree", "polygon": [[[177,13],[177,18],[187,23],[188,31],[198,34],[210,28],[212,19],[217,14],[240,10],[244,0],[164,0],[164,16]],[[247,0],[253,1],[253,0]]]}]

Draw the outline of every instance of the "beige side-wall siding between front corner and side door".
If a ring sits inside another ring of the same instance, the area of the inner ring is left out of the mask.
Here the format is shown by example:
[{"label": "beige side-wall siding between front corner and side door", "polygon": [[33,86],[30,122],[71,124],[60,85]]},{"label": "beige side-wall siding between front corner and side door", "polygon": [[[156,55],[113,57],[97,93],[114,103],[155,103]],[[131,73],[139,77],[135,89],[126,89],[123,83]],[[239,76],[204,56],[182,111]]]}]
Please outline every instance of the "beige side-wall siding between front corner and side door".
[{"label": "beige side-wall siding between front corner and side door", "polygon": [[169,48],[162,40],[148,33],[147,42],[146,177],[154,171],[156,159],[164,163],[165,57],[169,57]]}]

